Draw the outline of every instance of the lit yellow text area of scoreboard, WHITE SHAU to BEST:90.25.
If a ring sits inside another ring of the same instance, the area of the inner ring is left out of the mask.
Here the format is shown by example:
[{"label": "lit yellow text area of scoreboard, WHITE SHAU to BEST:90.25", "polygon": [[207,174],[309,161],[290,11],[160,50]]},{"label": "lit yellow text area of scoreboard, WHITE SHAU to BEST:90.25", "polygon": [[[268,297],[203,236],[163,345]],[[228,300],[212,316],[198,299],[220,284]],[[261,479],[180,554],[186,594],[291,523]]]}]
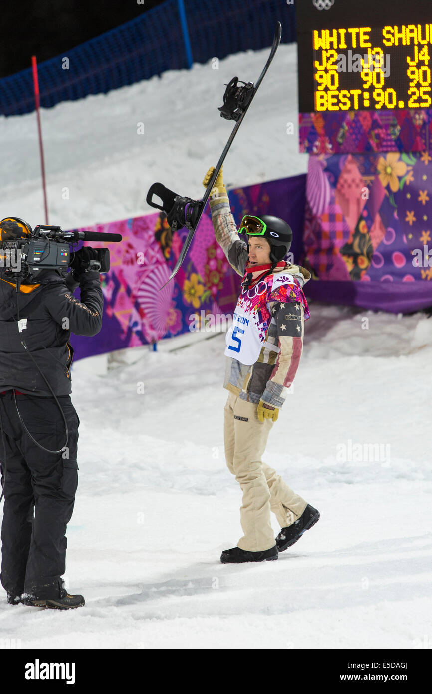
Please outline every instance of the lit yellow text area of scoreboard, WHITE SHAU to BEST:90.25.
[{"label": "lit yellow text area of scoreboard, WHITE SHAU to BEST:90.25", "polygon": [[429,107],[429,27],[313,31],[313,110]]}]

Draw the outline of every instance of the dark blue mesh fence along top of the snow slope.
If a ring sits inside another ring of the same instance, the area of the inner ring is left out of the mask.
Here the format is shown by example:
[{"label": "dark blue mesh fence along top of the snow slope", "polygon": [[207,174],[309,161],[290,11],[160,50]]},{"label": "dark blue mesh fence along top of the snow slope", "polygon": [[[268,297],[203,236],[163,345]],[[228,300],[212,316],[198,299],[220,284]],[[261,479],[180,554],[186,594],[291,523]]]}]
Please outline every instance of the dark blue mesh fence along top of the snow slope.
[{"label": "dark blue mesh fence along top of the snow slope", "polygon": [[[295,41],[295,10],[286,0],[224,0],[221,5],[184,0],[184,8],[193,62],[266,48],[277,21],[282,42]],[[166,0],[132,22],[40,63],[40,103],[50,108],[87,94],[106,94],[187,65],[178,0]],[[34,109],[31,67],[0,80],[0,114]]]}]

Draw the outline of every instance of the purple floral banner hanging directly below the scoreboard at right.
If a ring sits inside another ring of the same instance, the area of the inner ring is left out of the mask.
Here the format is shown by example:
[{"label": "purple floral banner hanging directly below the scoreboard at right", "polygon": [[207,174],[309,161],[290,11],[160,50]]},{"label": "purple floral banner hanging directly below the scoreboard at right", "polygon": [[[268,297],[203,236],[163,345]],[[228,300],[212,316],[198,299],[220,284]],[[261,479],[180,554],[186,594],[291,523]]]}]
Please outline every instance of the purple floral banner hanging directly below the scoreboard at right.
[{"label": "purple floral banner hanging directly below the scoreboard at right", "polygon": [[[432,305],[431,198],[432,158],[426,151],[311,155],[304,250],[313,277],[332,282],[327,300],[337,301],[338,290],[342,303],[365,307]],[[358,280],[347,301],[344,285],[334,284],[344,280]],[[323,288],[327,282],[315,284]],[[324,296],[309,285],[306,295],[308,289],[315,298]],[[362,291],[356,301],[354,294]]]}]

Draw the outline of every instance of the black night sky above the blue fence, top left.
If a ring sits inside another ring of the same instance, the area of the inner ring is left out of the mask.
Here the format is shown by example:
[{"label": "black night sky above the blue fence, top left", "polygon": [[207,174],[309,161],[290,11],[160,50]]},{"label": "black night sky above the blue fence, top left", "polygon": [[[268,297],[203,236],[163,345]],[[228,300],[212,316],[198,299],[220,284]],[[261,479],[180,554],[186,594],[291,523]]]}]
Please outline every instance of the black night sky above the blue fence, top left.
[{"label": "black night sky above the blue fence, top left", "polygon": [[8,0],[2,2],[0,77],[58,56],[164,0]]}]

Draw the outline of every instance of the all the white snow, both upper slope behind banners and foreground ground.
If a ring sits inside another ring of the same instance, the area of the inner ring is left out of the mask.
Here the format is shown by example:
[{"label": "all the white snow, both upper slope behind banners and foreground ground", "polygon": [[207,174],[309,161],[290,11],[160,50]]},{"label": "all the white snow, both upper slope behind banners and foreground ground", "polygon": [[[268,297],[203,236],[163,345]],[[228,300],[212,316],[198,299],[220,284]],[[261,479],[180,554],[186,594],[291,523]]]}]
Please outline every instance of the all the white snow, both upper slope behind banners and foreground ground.
[{"label": "all the white snow, both upper slope behind banners and foreground ground", "polygon": [[[143,214],[156,180],[198,196],[232,129],[217,112],[223,85],[256,81],[267,53],[44,110],[51,223]],[[306,171],[296,79],[295,46],[282,45],[227,158],[229,185]],[[0,146],[0,218],[44,221],[35,115],[0,117]],[[12,607],[3,593],[0,644],[432,647],[432,319],[318,303],[311,315],[265,460],[320,510],[319,523],[278,561],[220,563],[242,534],[223,452],[223,335],[130,350],[135,363],[110,371],[106,357],[85,359],[73,367],[80,484],[67,587],[87,604]]]}]

